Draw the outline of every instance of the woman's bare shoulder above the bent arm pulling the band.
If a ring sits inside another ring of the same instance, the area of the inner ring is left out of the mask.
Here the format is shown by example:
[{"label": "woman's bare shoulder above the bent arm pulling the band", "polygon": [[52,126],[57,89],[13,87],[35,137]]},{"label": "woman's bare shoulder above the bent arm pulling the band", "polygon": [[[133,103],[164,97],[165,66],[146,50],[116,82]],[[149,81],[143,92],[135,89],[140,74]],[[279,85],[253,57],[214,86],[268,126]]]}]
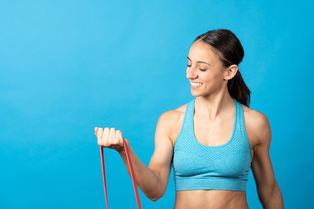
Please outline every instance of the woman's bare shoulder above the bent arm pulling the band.
[{"label": "woman's bare shoulder above the bent arm pulling the band", "polygon": [[158,120],[156,133],[160,131],[167,133],[168,137],[174,144],[181,130],[186,107],[187,105],[185,104],[177,109],[164,112]]}]

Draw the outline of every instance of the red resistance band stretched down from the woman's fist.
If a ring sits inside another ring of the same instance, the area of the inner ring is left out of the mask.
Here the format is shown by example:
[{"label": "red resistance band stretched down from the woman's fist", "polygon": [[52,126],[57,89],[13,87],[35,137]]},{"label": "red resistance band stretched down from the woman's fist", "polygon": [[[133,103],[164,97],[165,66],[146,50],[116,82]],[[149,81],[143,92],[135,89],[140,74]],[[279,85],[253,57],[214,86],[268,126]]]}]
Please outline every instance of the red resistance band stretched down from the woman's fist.
[{"label": "red resistance band stretched down from the woman's fist", "polygon": [[[139,194],[138,194],[137,184],[136,184],[136,180],[135,180],[134,170],[133,170],[130,154],[128,152],[128,148],[127,148],[127,145],[126,145],[126,142],[124,139],[123,139],[123,146],[124,146],[124,150],[125,150],[125,154],[126,154],[127,163],[128,163],[129,168],[130,168],[130,173],[131,173],[131,178],[132,178],[132,182],[133,182],[137,208],[141,209],[142,207],[140,205]],[[104,155],[103,155],[103,148],[102,147],[100,147],[100,157],[101,157],[101,165],[102,165],[101,166],[102,167],[102,179],[103,179],[103,187],[104,187],[104,192],[105,192],[106,208],[108,209],[108,198],[107,198],[106,176],[105,176],[105,163],[104,163]]]}]

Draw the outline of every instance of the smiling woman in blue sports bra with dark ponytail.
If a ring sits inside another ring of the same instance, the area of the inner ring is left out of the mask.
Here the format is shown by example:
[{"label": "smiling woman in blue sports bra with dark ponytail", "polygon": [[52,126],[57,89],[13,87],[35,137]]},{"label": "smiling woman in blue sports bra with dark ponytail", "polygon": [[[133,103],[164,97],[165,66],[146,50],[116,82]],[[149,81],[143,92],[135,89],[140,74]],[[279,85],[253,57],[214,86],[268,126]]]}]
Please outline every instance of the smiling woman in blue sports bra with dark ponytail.
[{"label": "smiling woman in blue sports bra with dark ponytail", "polygon": [[[247,209],[251,167],[263,208],[283,208],[269,157],[269,122],[249,108],[250,91],[238,71],[243,56],[229,30],[199,36],[187,66],[196,98],[161,115],[148,167],[126,140],[137,184],[151,200],[164,195],[173,163],[176,209]],[[96,127],[95,134],[100,146],[119,152],[129,171],[121,131]]]}]

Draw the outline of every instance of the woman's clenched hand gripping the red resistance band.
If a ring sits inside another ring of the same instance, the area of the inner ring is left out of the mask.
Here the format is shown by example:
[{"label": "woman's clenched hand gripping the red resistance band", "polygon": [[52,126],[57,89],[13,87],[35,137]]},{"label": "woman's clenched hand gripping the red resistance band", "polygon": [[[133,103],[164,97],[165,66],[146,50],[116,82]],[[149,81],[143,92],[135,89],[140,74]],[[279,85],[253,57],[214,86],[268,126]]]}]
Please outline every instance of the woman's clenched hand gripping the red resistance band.
[{"label": "woman's clenched hand gripping the red resistance band", "polygon": [[123,149],[123,137],[120,130],[115,128],[98,128],[95,127],[95,135],[99,146],[108,147],[117,151]]}]

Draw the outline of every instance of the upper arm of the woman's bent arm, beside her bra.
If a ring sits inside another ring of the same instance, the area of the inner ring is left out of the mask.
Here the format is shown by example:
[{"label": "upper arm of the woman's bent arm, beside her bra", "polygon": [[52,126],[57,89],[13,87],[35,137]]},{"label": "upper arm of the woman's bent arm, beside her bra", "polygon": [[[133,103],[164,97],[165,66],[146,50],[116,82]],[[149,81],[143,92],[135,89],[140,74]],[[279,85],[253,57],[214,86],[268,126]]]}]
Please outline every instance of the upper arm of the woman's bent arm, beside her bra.
[{"label": "upper arm of the woman's bent arm, beside her bra", "polygon": [[168,185],[174,152],[171,140],[172,121],[171,112],[163,113],[159,118],[155,130],[154,152],[148,165],[149,169],[161,180],[164,191]]}]

